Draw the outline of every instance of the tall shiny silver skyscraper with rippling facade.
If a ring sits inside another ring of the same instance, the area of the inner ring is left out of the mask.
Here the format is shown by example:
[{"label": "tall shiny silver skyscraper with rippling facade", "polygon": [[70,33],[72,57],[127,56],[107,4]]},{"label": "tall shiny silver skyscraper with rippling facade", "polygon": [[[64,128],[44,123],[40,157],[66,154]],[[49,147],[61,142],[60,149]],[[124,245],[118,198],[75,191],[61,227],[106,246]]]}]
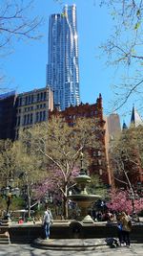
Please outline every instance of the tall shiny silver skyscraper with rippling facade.
[{"label": "tall shiny silver skyscraper with rippling facade", "polygon": [[79,105],[79,66],[76,6],[65,5],[49,21],[49,60],[47,84],[53,91],[53,104],[64,110]]}]

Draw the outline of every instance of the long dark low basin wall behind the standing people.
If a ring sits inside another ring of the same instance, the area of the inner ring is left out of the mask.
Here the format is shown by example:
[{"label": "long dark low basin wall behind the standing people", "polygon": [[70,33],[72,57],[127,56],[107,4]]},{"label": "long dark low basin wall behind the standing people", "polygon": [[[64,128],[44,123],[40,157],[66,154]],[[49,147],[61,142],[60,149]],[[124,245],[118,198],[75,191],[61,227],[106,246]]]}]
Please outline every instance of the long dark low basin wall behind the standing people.
[{"label": "long dark low basin wall behind the standing people", "polygon": [[[43,228],[40,224],[11,225],[9,227],[11,243],[31,243],[36,238],[44,238]],[[134,224],[131,233],[133,243],[143,243],[143,224]],[[115,225],[83,224],[73,221],[71,224],[53,223],[51,225],[51,239],[76,238],[108,238],[117,237]]]}]

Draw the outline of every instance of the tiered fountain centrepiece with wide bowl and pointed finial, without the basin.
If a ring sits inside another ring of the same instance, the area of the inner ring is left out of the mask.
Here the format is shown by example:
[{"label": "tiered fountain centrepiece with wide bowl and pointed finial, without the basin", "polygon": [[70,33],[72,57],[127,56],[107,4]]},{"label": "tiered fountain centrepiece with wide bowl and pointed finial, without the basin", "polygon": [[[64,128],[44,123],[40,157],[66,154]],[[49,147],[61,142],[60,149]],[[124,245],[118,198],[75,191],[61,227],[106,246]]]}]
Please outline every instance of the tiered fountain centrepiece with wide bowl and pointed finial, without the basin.
[{"label": "tiered fountain centrepiece with wide bowl and pointed finial, without the basin", "polygon": [[99,195],[89,195],[87,192],[87,184],[91,182],[91,177],[86,174],[86,171],[83,168],[83,153],[81,152],[81,168],[80,173],[75,177],[77,187],[80,189],[79,194],[69,195],[68,198],[73,202],[77,203],[80,209],[80,216],[77,218],[77,221],[82,222],[93,222],[90,215],[88,215],[88,209],[92,205],[92,202],[98,198],[101,198]]}]

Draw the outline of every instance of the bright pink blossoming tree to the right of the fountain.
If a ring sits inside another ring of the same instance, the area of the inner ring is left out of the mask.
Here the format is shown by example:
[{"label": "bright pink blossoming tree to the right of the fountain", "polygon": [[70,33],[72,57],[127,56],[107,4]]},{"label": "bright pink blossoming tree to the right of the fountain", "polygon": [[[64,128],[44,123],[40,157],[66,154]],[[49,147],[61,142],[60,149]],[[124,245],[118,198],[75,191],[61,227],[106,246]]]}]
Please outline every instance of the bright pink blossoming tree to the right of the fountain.
[{"label": "bright pink blossoming tree to the right of the fountain", "polygon": [[128,191],[115,191],[112,190],[111,201],[107,203],[107,207],[115,212],[125,211],[128,214],[133,213],[134,210],[139,213],[143,210],[143,198],[132,200]]}]

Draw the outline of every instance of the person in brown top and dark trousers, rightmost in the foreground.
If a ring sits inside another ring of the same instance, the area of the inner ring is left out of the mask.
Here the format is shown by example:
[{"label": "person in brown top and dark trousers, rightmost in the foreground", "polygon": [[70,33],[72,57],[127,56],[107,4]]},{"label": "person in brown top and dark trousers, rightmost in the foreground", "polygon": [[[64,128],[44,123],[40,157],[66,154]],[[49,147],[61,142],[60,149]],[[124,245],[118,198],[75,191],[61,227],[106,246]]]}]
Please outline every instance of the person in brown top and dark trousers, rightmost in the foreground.
[{"label": "person in brown top and dark trousers, rightmost in the foreground", "polygon": [[130,247],[130,233],[132,231],[132,221],[125,212],[121,213],[120,223],[122,225],[123,242]]}]

